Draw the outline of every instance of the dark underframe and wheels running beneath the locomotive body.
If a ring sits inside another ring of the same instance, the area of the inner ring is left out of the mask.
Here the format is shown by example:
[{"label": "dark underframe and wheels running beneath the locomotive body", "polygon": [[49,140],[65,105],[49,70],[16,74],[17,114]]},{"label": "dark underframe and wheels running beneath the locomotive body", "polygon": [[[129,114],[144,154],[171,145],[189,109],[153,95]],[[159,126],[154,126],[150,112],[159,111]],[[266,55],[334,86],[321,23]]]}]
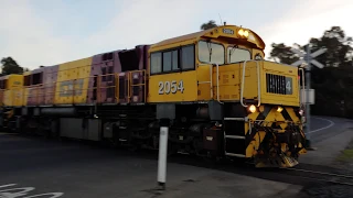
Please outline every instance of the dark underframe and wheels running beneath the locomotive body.
[{"label": "dark underframe and wheels running beneath the locomotive body", "polygon": [[[277,158],[286,155],[296,161],[302,148],[298,144],[303,141],[296,124],[278,133],[275,128],[263,127],[254,120],[250,133],[246,132],[248,111],[238,102],[23,107],[14,108],[12,113],[11,119],[3,122],[12,131],[151,150],[159,147],[160,120],[170,119],[169,154],[179,152],[213,160],[240,157],[260,161],[259,166],[274,153]],[[258,140],[254,155],[248,156],[250,143],[261,132],[265,132],[263,140]],[[288,146],[289,152],[284,152],[284,146]],[[279,161],[286,164],[282,157]],[[277,162],[275,166],[284,165]]]}]

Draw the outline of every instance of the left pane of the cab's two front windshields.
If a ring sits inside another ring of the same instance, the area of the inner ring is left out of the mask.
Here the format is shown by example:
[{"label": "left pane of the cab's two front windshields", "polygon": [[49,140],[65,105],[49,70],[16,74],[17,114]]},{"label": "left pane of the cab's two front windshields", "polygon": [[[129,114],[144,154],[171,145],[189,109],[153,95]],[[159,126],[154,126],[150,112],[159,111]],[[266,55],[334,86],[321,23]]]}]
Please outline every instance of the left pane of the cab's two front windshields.
[{"label": "left pane of the cab's two front windshields", "polygon": [[224,47],[211,42],[199,42],[199,59],[202,63],[224,64]]}]

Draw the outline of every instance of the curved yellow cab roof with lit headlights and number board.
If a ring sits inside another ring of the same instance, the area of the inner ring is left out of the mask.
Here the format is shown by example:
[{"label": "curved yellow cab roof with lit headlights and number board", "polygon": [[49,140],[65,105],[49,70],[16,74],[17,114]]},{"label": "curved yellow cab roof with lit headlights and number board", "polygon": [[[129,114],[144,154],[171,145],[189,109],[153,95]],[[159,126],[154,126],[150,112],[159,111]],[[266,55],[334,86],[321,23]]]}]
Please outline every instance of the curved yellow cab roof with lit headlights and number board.
[{"label": "curved yellow cab roof with lit headlights and number board", "polygon": [[[222,31],[223,29],[228,29],[228,30],[233,30],[234,32],[236,32],[234,35],[227,35],[224,34]],[[158,47],[162,47],[163,45],[169,45],[169,44],[173,44],[173,43],[180,43],[180,42],[184,42],[184,41],[190,41],[190,40],[200,40],[201,37],[212,37],[212,38],[217,38],[218,36],[227,36],[227,37],[234,37],[234,38],[239,38],[237,36],[237,31],[244,29],[240,26],[236,26],[236,25],[222,25],[222,26],[216,26],[213,29],[208,29],[205,31],[200,31],[200,32],[194,32],[191,34],[185,34],[182,36],[176,36],[176,37],[172,37],[172,38],[168,38],[164,41],[161,41],[159,43],[156,43],[153,45],[151,45],[151,48],[158,48]],[[253,32],[249,29],[244,29],[247,30],[249,32],[249,36],[247,38],[247,42],[254,43],[256,44],[256,46],[260,50],[265,48],[265,43],[263,41],[263,38],[260,36],[258,36],[255,32]]]}]

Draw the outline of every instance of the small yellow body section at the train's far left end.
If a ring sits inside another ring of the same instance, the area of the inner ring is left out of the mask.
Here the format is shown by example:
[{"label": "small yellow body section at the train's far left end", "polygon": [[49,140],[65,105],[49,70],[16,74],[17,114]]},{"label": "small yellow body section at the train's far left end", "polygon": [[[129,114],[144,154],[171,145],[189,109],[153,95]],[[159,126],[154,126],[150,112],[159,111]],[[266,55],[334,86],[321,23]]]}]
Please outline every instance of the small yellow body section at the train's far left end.
[{"label": "small yellow body section at the train's far left end", "polygon": [[3,106],[23,106],[23,75],[8,75],[6,89],[3,90]]}]

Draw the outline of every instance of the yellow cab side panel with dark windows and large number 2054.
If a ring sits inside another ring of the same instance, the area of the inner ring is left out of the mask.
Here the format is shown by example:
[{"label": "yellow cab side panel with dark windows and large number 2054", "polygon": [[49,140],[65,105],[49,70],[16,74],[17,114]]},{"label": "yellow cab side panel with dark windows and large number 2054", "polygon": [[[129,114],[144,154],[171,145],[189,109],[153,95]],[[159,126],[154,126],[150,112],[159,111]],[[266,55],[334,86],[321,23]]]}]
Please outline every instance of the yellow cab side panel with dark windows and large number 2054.
[{"label": "yellow cab side panel with dark windows and large number 2054", "polygon": [[197,100],[195,46],[152,52],[149,57],[149,102]]}]

